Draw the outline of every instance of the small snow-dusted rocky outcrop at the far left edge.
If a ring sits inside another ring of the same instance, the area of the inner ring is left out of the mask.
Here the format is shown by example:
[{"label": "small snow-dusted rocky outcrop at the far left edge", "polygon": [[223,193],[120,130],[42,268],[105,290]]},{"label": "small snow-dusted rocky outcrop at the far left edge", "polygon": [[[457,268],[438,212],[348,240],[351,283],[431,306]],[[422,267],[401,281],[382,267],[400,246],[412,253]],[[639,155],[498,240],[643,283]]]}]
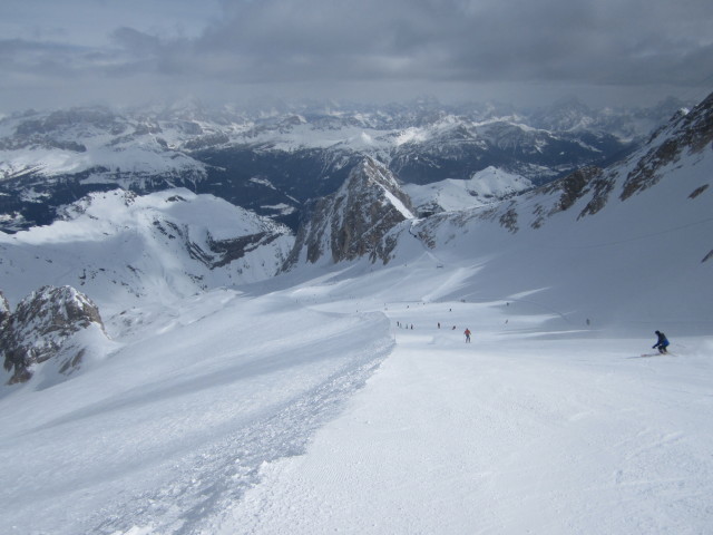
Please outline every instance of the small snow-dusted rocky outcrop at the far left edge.
[{"label": "small snow-dusted rocky outcrop at the far left edge", "polygon": [[[104,331],[97,307],[71,286],[43,286],[21,301],[11,314],[4,301],[0,304],[0,321],[2,307],[8,312],[2,322],[0,354],[4,357],[4,369],[12,373],[10,385],[28,381],[33,367],[59,356],[75,333],[90,325]],[[84,353],[85,349],[78,346],[62,352],[60,373],[76,370]]]}]

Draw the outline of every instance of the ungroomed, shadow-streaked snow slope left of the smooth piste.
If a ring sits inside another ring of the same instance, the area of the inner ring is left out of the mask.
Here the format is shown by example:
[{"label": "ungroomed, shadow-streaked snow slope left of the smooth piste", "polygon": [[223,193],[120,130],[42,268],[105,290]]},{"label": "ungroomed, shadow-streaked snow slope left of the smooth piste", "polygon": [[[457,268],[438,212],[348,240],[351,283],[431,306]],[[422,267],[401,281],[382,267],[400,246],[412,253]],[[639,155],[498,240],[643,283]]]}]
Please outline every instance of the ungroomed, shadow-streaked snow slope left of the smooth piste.
[{"label": "ungroomed, shadow-streaked snow slope left of the smooth piste", "polygon": [[380,314],[281,296],[215,291],[164,312],[172,325],[104,367],[2,387],[7,533],[192,533],[263,463],[301,454],[393,344]]}]

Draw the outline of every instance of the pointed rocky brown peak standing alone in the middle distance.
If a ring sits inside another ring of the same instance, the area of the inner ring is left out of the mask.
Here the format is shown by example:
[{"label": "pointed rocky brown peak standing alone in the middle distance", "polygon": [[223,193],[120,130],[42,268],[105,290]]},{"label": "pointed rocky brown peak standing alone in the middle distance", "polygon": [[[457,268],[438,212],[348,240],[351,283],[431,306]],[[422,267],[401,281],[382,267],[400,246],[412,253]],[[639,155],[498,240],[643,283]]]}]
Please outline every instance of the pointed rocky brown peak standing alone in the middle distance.
[{"label": "pointed rocky brown peak standing alone in the middle distance", "polygon": [[411,203],[393,175],[365,158],[339,191],[316,202],[300,227],[285,269],[301,262],[342,262],[367,256],[388,262],[395,242],[388,233],[412,218]]}]

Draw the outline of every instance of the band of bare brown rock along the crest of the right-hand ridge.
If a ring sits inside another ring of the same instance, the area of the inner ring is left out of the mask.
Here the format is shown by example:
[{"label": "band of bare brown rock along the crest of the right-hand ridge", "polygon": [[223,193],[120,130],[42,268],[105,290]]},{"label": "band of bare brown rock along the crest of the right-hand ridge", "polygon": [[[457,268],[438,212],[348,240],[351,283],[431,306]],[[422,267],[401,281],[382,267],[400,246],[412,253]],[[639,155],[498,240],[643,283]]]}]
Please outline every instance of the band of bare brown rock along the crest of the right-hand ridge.
[{"label": "band of bare brown rock along the crest of the right-hand ridge", "polygon": [[[710,165],[713,150],[713,95],[690,111],[681,110],[648,143],[625,159],[600,168],[587,166],[506,202],[459,212],[434,214],[418,225],[418,237],[436,247],[446,235],[441,228],[496,224],[516,234],[538,230],[554,217],[567,214],[573,223],[594,216],[615,203],[631,203],[646,189],[672,177],[681,182],[690,210],[710,202]],[[683,186],[685,179],[691,185]],[[694,187],[695,186],[695,187]],[[674,200],[672,200],[674,201]],[[633,203],[632,203],[633,204]],[[626,208],[623,208],[626,210]],[[713,252],[703,262],[713,259]]]}]

